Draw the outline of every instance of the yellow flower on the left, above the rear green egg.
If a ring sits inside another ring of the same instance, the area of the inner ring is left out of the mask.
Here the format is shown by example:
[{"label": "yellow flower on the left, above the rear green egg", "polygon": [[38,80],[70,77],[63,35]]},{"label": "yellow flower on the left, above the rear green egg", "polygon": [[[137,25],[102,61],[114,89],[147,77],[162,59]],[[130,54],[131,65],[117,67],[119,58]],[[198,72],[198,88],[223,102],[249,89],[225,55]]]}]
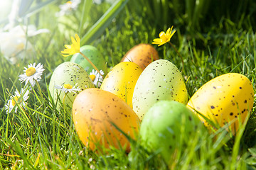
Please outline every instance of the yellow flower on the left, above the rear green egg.
[{"label": "yellow flower on the left, above the rear green egg", "polygon": [[80,52],[80,38],[75,34],[75,38],[71,37],[72,45],[65,45],[66,49],[61,51],[63,57],[68,57],[69,55],[75,55]]}]

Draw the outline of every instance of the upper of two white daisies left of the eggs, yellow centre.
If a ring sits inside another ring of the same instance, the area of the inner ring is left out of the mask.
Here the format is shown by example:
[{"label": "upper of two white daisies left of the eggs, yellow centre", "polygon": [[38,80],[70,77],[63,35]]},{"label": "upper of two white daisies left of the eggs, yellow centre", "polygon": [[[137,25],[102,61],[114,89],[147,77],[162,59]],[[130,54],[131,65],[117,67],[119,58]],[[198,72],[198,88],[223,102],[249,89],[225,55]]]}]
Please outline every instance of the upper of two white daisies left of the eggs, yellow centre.
[{"label": "upper of two white daisies left of the eggs, yellow centre", "polygon": [[36,66],[36,62],[33,64],[29,64],[28,68],[24,67],[25,69],[23,70],[24,74],[19,75],[18,77],[20,78],[19,80],[21,83],[23,81],[26,81],[25,84],[28,84],[28,81],[30,82],[31,86],[35,86],[36,81],[41,80],[41,75],[43,74],[43,64],[39,63]]}]

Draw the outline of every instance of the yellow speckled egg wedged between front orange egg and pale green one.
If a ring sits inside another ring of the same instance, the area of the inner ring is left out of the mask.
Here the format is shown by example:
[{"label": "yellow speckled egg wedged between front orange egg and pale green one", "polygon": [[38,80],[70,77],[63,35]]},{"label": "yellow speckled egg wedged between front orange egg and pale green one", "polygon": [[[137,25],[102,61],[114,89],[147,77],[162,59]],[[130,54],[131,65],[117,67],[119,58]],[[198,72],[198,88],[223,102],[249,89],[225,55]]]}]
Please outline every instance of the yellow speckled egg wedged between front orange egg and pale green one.
[{"label": "yellow speckled egg wedged between front orange egg and pale green one", "polygon": [[132,108],[134,86],[140,74],[142,69],[134,62],[120,62],[103,79],[100,89],[117,95]]}]

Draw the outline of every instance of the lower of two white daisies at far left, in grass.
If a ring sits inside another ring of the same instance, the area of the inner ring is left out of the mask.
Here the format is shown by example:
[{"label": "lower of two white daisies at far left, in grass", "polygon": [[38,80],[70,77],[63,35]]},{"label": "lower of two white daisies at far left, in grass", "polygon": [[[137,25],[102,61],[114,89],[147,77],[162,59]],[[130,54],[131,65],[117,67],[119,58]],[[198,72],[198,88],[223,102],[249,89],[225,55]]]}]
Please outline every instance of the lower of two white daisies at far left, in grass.
[{"label": "lower of two white daisies at far left, in grass", "polygon": [[[9,113],[13,110],[14,106],[18,104],[22,108],[26,106],[25,101],[28,100],[28,94],[29,91],[27,89],[21,89],[21,92],[18,92],[17,90],[14,93],[14,96],[11,96],[11,99],[7,101],[5,104],[6,111]],[[15,113],[17,113],[18,107],[15,108]]]}]

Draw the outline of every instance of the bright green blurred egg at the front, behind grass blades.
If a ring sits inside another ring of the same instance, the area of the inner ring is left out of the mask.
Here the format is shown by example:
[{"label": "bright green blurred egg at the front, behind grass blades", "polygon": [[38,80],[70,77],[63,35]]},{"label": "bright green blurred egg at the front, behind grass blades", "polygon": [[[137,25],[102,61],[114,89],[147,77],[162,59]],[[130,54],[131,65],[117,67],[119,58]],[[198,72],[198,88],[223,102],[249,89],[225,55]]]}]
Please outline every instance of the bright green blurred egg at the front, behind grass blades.
[{"label": "bright green blurred egg at the front, behind grass blades", "polygon": [[178,101],[159,101],[147,111],[139,130],[142,145],[151,151],[159,150],[170,162],[176,149],[187,147],[196,133],[206,134],[201,120]]}]

